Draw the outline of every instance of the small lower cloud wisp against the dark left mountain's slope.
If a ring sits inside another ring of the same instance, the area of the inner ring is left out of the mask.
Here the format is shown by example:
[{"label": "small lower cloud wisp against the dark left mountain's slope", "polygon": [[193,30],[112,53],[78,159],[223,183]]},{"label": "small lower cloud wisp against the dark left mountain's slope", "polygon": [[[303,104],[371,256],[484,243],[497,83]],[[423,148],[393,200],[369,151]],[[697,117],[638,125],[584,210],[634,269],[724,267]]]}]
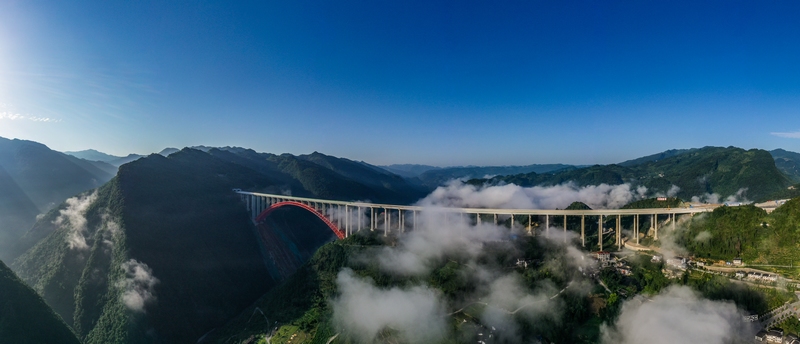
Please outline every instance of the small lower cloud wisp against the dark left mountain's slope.
[{"label": "small lower cloud wisp against the dark left mountain's slope", "polygon": [[154,288],[158,278],[147,264],[135,259],[122,263],[121,267],[125,278],[117,282],[117,287],[122,289],[122,303],[134,312],[144,313],[144,307],[156,301]]}]

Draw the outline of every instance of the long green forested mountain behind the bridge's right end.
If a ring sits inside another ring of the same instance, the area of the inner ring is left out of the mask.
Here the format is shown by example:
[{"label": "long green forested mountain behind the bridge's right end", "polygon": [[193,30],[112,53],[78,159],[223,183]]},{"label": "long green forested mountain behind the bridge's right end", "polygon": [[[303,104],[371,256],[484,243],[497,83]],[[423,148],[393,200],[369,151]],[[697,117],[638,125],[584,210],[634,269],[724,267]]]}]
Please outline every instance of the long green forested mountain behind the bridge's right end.
[{"label": "long green forested mountain behind the bridge's right end", "polygon": [[[663,157],[663,158],[661,158]],[[689,200],[716,194],[725,199],[761,201],[784,193],[792,182],[775,165],[769,152],[735,147],[704,147],[683,152],[671,151],[631,160],[622,164],[595,165],[551,173],[526,173],[492,179],[473,180],[473,184],[515,183],[522,186],[557,185],[573,182],[577,186],[630,183],[645,186],[650,193],[670,194]],[[673,186],[679,189],[675,190]]]}]

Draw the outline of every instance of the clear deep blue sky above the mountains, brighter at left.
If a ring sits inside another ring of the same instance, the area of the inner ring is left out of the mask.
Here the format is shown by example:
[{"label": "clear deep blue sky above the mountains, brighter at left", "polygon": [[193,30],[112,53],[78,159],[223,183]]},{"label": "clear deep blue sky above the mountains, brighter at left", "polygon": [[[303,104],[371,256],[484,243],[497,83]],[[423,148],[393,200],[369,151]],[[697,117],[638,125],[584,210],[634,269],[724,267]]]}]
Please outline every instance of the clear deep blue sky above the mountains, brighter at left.
[{"label": "clear deep blue sky above the mountains, brighter at left", "polygon": [[800,151],[798,2],[0,2],[0,136],[374,164]]}]

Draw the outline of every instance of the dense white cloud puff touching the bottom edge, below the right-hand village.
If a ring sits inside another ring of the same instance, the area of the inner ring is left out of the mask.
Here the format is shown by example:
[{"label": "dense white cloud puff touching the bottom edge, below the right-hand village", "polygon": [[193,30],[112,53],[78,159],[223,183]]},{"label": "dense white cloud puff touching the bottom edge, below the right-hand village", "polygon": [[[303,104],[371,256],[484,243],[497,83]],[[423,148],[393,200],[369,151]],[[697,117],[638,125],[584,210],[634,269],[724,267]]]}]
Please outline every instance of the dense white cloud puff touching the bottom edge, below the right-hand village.
[{"label": "dense white cloud puff touching the bottom edge, below the right-hand village", "polygon": [[703,299],[684,286],[627,301],[617,323],[602,332],[607,344],[749,343],[754,335],[732,302]]}]

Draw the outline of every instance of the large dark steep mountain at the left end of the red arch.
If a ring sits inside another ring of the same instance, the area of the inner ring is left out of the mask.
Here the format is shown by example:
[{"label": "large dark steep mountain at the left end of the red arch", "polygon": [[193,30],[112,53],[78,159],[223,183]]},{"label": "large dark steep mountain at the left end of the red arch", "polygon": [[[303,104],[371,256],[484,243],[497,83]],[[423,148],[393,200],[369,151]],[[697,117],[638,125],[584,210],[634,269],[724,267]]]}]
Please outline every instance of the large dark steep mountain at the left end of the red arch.
[{"label": "large dark steep mountain at the left end of the red arch", "polygon": [[275,283],[231,192],[270,183],[195,150],[150,155],[48,213],[13,267],[84,343],[195,342]]}]

